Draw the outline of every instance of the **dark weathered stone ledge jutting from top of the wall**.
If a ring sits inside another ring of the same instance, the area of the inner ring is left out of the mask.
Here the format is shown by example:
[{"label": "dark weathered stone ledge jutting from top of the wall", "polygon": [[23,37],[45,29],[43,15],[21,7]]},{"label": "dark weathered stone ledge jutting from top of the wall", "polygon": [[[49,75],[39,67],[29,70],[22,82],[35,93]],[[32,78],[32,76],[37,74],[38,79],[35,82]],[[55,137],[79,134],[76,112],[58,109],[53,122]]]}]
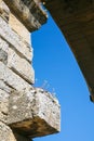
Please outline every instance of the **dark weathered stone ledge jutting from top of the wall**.
[{"label": "dark weathered stone ledge jutting from top of the wall", "polygon": [[46,14],[35,0],[4,0],[4,2],[29,31],[38,29],[46,22]]}]

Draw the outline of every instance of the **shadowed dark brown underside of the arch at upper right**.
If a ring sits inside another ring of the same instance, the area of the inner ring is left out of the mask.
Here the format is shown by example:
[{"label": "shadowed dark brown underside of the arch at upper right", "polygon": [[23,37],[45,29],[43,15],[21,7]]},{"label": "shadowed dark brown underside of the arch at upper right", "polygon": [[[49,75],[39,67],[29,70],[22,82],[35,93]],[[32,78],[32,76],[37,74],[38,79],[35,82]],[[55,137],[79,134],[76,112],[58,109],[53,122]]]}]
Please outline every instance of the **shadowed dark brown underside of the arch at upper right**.
[{"label": "shadowed dark brown underside of the arch at upper right", "polygon": [[94,101],[94,0],[45,0],[45,5],[75,53]]}]

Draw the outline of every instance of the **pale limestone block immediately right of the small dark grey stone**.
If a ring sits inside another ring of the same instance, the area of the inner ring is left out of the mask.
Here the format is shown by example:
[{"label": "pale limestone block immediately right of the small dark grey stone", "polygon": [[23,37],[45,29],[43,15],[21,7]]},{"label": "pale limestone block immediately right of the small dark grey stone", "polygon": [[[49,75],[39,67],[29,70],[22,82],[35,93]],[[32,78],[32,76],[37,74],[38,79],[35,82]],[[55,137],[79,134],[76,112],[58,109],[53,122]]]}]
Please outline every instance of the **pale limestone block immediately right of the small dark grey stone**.
[{"label": "pale limestone block immediately right of the small dark grey stone", "polygon": [[35,81],[35,72],[31,64],[9,49],[8,66],[29,84]]}]

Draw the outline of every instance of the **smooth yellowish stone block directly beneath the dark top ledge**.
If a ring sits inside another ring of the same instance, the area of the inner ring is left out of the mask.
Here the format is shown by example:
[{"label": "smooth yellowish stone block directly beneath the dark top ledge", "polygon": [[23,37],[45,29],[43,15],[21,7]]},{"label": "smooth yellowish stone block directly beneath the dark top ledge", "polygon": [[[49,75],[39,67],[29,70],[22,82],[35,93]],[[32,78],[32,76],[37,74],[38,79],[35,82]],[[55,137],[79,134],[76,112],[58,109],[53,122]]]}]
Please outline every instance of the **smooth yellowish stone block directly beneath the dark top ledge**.
[{"label": "smooth yellowish stone block directly beneath the dark top ledge", "polygon": [[30,33],[26,27],[11,13],[9,24],[27,43],[30,43]]}]

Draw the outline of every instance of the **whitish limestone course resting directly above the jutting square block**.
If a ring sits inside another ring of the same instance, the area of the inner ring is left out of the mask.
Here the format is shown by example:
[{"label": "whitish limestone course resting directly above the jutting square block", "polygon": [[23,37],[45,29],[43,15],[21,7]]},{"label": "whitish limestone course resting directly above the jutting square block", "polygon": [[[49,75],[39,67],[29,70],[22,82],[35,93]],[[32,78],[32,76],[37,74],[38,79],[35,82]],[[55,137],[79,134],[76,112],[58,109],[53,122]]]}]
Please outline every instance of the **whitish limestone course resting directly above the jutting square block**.
[{"label": "whitish limestone course resting directly above the jutting square block", "polygon": [[2,62],[0,62],[0,79],[3,80],[6,86],[17,91],[31,88],[31,86],[27,81],[13,73]]}]

